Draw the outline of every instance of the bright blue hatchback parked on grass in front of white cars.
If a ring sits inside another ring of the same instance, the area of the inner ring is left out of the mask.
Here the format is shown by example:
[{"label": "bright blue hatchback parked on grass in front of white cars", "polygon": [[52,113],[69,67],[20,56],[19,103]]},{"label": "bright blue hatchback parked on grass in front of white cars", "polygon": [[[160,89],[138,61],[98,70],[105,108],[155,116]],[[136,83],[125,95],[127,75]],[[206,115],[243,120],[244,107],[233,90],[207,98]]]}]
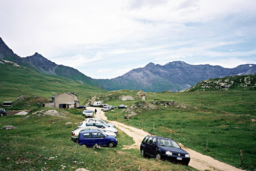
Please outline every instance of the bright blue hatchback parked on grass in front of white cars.
[{"label": "bright blue hatchback parked on grass in front of white cars", "polygon": [[109,146],[113,148],[117,145],[117,139],[115,137],[105,135],[97,130],[81,131],[78,137],[77,143],[87,147],[92,147],[95,144],[98,144],[99,146]]}]

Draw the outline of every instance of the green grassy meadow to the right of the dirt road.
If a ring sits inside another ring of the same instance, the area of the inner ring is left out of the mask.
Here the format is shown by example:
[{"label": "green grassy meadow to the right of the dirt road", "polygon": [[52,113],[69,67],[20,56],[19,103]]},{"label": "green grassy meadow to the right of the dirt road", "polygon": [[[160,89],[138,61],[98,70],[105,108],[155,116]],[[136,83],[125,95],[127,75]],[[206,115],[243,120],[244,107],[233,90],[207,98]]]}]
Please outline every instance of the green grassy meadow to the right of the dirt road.
[{"label": "green grassy meadow to the right of the dirt road", "polygon": [[[108,119],[137,128],[143,121],[143,130],[159,136],[172,137],[174,132],[174,139],[188,148],[233,166],[241,167],[242,150],[242,168],[256,168],[256,91],[147,92],[145,102],[137,93],[120,90],[98,97],[105,104],[128,106],[108,112]],[[121,101],[123,95],[135,100]],[[124,119],[133,112],[137,115]]]}]

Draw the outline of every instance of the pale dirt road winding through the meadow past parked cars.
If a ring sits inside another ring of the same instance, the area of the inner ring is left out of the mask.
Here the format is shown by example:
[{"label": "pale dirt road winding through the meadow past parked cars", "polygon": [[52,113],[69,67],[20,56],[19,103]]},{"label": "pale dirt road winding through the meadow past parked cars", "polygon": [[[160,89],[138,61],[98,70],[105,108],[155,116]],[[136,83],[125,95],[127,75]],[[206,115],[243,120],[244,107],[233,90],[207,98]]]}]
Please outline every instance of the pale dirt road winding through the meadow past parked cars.
[{"label": "pale dirt road winding through the meadow past parked cars", "polygon": [[[95,108],[93,107],[88,107],[89,110],[94,110]],[[101,111],[100,108],[97,108],[97,114],[95,115],[95,117],[97,118],[101,118],[103,120],[108,121],[109,123],[114,124],[119,130],[125,132],[127,135],[133,137],[135,143],[130,145],[130,146],[126,146],[124,149],[140,149],[140,143],[142,141],[142,139],[146,136],[149,135],[150,133],[145,132],[141,129],[137,129],[131,126],[127,126],[123,123],[119,123],[118,121],[111,121],[108,120],[105,115],[104,112]],[[215,160],[214,158],[211,158],[209,156],[205,156],[202,155],[194,150],[185,148],[185,146],[183,146],[182,144],[180,144],[180,146],[182,147],[182,149],[184,149],[185,151],[187,151],[190,155],[190,162],[189,162],[189,166],[192,166],[194,168],[197,168],[198,170],[212,170],[212,171],[242,171],[242,169],[233,167],[231,165],[228,165],[226,163],[220,162],[218,160]]]}]

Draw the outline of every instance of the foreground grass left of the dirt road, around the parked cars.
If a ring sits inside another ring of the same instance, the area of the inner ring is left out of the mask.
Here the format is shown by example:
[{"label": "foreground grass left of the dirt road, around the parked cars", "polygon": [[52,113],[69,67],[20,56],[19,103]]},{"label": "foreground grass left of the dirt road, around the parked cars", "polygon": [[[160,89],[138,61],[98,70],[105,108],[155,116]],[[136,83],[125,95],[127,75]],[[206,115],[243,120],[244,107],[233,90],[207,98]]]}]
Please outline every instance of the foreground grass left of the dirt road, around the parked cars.
[{"label": "foreground grass left of the dirt road, around the parked cars", "polygon": [[[50,108],[44,108],[48,110]],[[37,109],[39,110],[39,109]],[[133,139],[118,130],[115,148],[84,148],[74,143],[71,131],[84,117],[79,110],[60,110],[64,117],[9,115],[0,118],[0,127],[12,125],[18,129],[0,130],[0,170],[196,170],[140,157],[139,149],[122,150]],[[72,112],[72,113],[70,113]],[[27,117],[29,116],[29,117]],[[71,122],[73,124],[66,125]]]}]

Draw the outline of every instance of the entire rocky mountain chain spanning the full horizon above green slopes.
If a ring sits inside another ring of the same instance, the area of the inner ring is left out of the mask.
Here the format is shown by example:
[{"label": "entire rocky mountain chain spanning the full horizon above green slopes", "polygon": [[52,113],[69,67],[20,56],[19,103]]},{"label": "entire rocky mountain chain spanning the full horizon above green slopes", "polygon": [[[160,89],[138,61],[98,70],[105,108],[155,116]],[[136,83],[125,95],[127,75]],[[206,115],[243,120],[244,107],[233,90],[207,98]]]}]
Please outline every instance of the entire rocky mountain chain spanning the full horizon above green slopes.
[{"label": "entire rocky mountain chain spanning the full horizon above green slopes", "polygon": [[180,91],[202,80],[221,78],[231,75],[256,73],[255,64],[224,68],[212,65],[190,65],[182,61],[165,65],[148,63],[145,67],[133,69],[114,79],[92,79],[72,67],[57,65],[42,55],[35,53],[22,58],[14,54],[0,37],[0,59],[29,67],[40,74],[61,76],[106,90],[143,90],[143,91]]}]

